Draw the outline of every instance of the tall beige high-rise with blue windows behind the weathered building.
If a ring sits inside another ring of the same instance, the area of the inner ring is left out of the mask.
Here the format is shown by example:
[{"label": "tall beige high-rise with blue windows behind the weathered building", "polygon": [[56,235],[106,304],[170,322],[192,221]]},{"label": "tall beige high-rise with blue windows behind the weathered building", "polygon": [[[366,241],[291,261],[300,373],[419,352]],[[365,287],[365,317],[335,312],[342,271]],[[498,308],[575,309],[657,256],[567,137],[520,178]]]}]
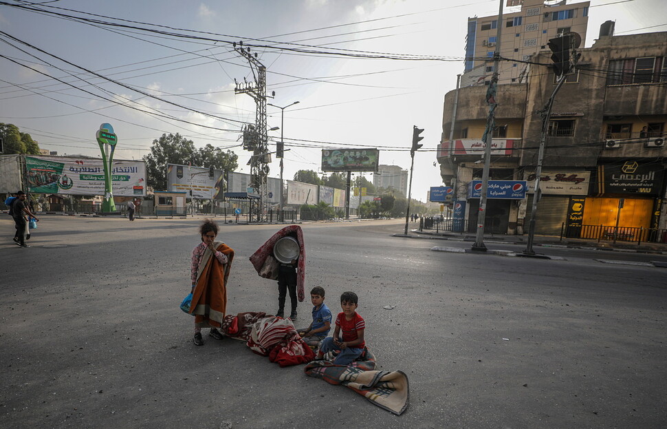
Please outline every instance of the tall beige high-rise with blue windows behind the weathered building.
[{"label": "tall beige high-rise with blue windows behind the weathered building", "polygon": [[[498,16],[468,19],[466,38],[466,68],[461,76],[461,86],[488,85],[494,72],[493,53],[498,25],[501,25],[501,52],[506,59],[531,61],[531,57],[544,50],[549,39],[566,32],[577,32],[586,40],[589,1],[507,0],[507,6],[521,10]],[[499,83],[521,82],[527,76],[528,64],[502,61],[499,66]]]}]

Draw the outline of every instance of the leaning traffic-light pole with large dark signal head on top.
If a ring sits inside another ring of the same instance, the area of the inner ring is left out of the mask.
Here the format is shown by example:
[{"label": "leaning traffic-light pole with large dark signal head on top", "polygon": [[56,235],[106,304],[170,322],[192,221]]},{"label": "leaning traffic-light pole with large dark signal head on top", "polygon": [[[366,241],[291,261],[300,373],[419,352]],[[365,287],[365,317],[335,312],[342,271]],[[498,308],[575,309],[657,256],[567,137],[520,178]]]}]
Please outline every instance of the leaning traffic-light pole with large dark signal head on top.
[{"label": "leaning traffic-light pole with large dark signal head on top", "polygon": [[[540,136],[540,149],[537,154],[537,166],[535,168],[535,186],[533,190],[533,205],[531,208],[530,222],[528,224],[528,240],[523,255],[535,255],[533,250],[533,240],[535,237],[535,218],[537,216],[537,204],[542,196],[540,190],[540,176],[542,176],[542,164],[544,161],[545,147],[547,146],[547,136],[549,134],[549,122],[551,121],[551,107],[554,105],[554,98],[558,94],[558,90],[565,83],[567,74],[575,69],[578,54],[573,52],[579,48],[581,44],[581,36],[575,32],[563,34],[561,37],[549,39],[549,49],[554,52],[551,55],[551,60],[554,61],[554,73],[558,76],[558,81],[554,92],[547,100],[545,108],[540,112],[542,114],[542,135]],[[573,53],[571,55],[571,52]],[[573,60],[572,62],[570,60]]]}]

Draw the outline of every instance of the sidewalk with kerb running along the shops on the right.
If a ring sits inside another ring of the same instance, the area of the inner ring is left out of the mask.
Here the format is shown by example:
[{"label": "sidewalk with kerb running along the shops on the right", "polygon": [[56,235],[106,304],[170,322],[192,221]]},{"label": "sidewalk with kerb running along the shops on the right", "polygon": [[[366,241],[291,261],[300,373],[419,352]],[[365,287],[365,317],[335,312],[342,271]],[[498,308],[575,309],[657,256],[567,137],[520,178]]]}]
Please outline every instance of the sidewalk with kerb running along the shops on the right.
[{"label": "sidewalk with kerb running along the shops on the right", "polygon": [[[396,234],[396,236],[404,236],[404,234]],[[455,233],[451,231],[432,230],[419,231],[419,229],[411,229],[408,237],[412,238],[430,238],[437,240],[452,240],[474,242],[475,235],[472,233]],[[485,234],[484,243],[505,243],[505,244],[526,244],[527,235],[524,236],[503,236],[499,234]],[[533,240],[533,247],[560,247],[563,249],[588,249],[588,250],[602,250],[602,251],[618,251],[618,252],[633,252],[633,253],[656,253],[659,255],[667,255],[667,243],[652,243],[652,242],[621,242],[600,240],[586,240],[578,238],[563,238],[562,241],[558,236],[535,236]]]}]

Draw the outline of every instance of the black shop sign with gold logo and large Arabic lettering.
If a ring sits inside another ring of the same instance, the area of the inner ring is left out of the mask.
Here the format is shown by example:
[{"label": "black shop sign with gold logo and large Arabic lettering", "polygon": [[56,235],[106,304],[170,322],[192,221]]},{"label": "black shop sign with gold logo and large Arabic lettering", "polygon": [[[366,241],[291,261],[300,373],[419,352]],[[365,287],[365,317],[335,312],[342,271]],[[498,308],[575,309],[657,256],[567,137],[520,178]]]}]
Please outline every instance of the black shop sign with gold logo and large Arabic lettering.
[{"label": "black shop sign with gold logo and large Arabic lettering", "polygon": [[598,193],[659,196],[664,172],[661,163],[628,160],[598,165]]}]

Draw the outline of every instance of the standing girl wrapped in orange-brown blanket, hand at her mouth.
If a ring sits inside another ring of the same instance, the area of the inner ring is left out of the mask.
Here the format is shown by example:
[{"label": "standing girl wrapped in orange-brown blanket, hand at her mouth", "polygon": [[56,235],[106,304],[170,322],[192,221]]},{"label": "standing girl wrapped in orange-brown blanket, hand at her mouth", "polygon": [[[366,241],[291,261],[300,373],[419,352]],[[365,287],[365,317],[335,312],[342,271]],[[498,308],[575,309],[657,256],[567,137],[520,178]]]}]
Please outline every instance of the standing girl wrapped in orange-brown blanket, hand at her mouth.
[{"label": "standing girl wrapped in orange-brown blanket, hand at her mouth", "polygon": [[201,328],[210,328],[208,335],[222,339],[217,330],[227,308],[227,279],[234,258],[234,250],[221,241],[215,241],[218,225],[210,219],[199,228],[201,243],[193,249],[190,277],[193,283],[193,301],[190,313],[195,315],[196,346],[203,346]]}]

